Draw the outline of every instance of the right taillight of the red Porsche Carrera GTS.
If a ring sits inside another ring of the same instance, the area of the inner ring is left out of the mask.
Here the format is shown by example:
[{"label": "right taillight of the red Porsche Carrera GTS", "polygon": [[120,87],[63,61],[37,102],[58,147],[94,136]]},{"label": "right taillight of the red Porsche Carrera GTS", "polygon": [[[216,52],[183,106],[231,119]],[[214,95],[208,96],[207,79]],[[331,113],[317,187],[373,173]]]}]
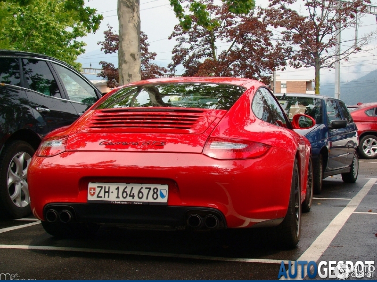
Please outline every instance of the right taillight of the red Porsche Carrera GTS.
[{"label": "right taillight of the red Porsche Carrera GTS", "polygon": [[211,137],[203,154],[214,159],[253,159],[264,155],[270,146],[258,142]]}]

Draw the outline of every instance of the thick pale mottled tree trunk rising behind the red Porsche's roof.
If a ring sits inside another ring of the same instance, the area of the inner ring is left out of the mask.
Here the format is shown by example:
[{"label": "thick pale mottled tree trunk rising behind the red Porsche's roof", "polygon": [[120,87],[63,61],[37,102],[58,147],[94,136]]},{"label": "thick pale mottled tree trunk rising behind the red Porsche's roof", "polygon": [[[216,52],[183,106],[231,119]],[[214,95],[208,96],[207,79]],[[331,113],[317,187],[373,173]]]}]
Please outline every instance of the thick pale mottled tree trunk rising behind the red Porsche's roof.
[{"label": "thick pale mottled tree trunk rising behind the red Porsche's roof", "polygon": [[119,85],[141,80],[140,2],[118,0]]}]

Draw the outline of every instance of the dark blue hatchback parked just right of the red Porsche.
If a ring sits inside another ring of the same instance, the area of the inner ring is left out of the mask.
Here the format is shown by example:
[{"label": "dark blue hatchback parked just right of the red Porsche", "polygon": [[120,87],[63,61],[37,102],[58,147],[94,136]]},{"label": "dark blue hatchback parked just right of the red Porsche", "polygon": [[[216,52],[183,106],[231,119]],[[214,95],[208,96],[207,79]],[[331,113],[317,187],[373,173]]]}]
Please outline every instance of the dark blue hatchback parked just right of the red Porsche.
[{"label": "dark blue hatchback parked just right of the red Porsche", "polygon": [[359,171],[359,138],[345,103],[311,94],[275,96],[290,120],[295,114],[306,114],[316,121],[310,129],[295,129],[311,143],[314,193],[321,193],[322,179],[331,175],[342,174],[344,182],[355,182]]}]

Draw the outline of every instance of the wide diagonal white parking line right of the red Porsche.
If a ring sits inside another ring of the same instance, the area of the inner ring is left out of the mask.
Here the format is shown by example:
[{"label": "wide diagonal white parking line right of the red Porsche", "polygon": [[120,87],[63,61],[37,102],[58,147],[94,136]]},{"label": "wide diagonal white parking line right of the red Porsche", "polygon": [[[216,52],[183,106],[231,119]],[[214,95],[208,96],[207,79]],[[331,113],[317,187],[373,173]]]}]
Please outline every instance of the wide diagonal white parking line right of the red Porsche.
[{"label": "wide diagonal white parking line right of the red Porsche", "polygon": [[[355,211],[357,206],[364,199],[365,195],[371,190],[373,184],[377,181],[377,178],[371,178],[365,183],[363,188],[352,198],[351,201],[342,209],[339,214],[330,222],[330,224],[325,228],[325,230],[320,233],[316,240],[310,245],[310,247],[297,259],[297,261],[318,261],[320,256],[329,247],[331,242],[334,240],[335,236],[338,234],[339,230],[346,223],[351,214]],[[304,271],[304,278],[307,276],[306,268],[301,268],[301,264],[297,265],[297,273],[302,273]],[[296,278],[291,279],[288,275],[288,279],[284,276],[280,277],[280,280],[302,280],[301,275],[297,275]]]}]

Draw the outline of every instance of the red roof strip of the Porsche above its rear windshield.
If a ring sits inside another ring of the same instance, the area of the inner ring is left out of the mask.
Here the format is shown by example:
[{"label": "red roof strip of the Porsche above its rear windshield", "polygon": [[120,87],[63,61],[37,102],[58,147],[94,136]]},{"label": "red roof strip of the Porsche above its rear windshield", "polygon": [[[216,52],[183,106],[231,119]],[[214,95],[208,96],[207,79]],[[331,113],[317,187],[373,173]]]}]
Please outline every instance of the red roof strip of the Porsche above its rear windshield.
[{"label": "red roof strip of the Porsche above its rear windshield", "polygon": [[253,79],[248,78],[238,78],[238,77],[166,77],[166,78],[157,78],[157,79],[147,79],[147,80],[140,80],[137,82],[133,82],[128,84],[127,86],[131,85],[144,85],[149,83],[189,83],[189,82],[199,82],[199,83],[220,83],[220,84],[233,84],[244,86],[248,83],[254,84],[261,84],[261,82]]}]

